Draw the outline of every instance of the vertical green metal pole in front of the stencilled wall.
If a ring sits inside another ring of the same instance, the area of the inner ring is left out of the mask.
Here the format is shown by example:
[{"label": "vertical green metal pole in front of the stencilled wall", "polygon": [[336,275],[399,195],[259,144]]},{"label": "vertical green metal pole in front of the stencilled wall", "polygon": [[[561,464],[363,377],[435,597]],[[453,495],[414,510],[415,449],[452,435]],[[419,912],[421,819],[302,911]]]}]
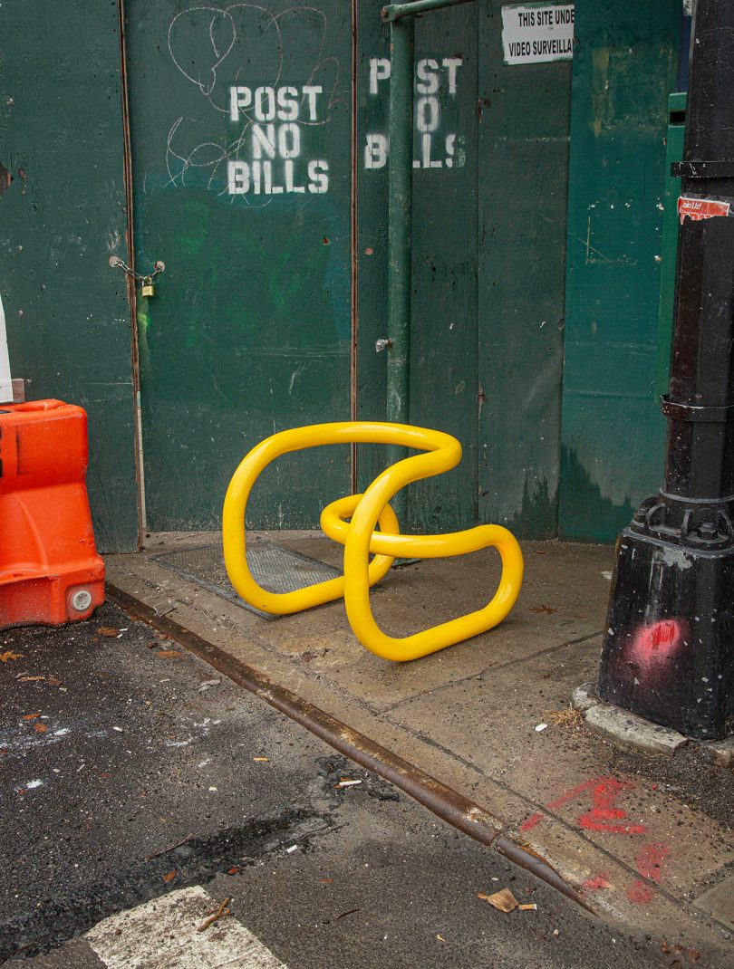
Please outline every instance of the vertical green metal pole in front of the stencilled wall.
[{"label": "vertical green metal pole in front of the stencilled wall", "polygon": [[399,423],[408,422],[410,389],[414,39],[412,16],[391,22],[387,419]]}]

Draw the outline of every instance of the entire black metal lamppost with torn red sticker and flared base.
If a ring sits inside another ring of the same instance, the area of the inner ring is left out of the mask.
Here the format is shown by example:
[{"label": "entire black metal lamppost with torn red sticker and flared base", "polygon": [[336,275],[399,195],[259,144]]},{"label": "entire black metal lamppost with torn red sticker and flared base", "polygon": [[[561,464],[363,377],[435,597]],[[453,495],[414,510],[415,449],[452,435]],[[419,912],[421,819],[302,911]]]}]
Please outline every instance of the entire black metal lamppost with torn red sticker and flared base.
[{"label": "entire black metal lamppost with torn red sticker and flared base", "polygon": [[665,484],[620,535],[598,678],[603,700],[699,739],[734,731],[732,36],[734,4],[698,0]]}]

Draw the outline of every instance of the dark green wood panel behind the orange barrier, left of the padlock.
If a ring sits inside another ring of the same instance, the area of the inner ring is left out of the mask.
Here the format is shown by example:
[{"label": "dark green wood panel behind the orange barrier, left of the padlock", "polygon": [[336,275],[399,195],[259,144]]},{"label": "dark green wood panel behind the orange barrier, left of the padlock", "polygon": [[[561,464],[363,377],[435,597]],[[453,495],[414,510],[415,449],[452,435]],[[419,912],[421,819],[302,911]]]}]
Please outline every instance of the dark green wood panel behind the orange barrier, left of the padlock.
[{"label": "dark green wood panel behind the orange barrier, left of the padlock", "polygon": [[0,5],[0,295],[29,399],[89,416],[87,476],[103,551],[138,535],[117,5]]}]

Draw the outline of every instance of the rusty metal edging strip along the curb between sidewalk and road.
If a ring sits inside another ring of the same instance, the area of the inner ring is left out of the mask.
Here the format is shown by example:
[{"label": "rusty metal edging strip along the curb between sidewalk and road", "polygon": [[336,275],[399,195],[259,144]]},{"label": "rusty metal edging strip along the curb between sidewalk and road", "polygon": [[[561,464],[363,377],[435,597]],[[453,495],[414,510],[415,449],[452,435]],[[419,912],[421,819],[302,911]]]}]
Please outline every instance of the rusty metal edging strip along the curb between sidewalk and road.
[{"label": "rusty metal edging strip along the curb between sidewalk and road", "polygon": [[419,804],[423,804],[442,821],[463,831],[480,844],[495,848],[500,855],[525,868],[571,901],[593,913],[588,902],[566,885],[548,861],[507,837],[503,833],[502,823],[486,808],[468,797],[463,797],[420,767],[404,761],[387,747],[352,730],[331,713],[308,703],[287,687],[273,683],[263,673],[239,662],[219,646],[181,626],[175,619],[168,615],[158,615],[145,603],[111,583],[107,585],[107,598],[132,618],[140,619],[176,640],[217,672],[228,676],[238,686],[301,724],[350,761],[383,777]]}]

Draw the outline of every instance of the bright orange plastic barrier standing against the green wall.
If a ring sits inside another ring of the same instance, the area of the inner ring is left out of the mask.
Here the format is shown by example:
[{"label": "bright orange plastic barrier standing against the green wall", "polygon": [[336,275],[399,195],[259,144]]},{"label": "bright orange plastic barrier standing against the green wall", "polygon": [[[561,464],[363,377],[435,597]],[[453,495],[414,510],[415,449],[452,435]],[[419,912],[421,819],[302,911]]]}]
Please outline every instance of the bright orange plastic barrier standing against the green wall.
[{"label": "bright orange plastic barrier standing against the green wall", "polygon": [[85,619],[105,601],[84,477],[86,413],[0,406],[0,629]]}]

